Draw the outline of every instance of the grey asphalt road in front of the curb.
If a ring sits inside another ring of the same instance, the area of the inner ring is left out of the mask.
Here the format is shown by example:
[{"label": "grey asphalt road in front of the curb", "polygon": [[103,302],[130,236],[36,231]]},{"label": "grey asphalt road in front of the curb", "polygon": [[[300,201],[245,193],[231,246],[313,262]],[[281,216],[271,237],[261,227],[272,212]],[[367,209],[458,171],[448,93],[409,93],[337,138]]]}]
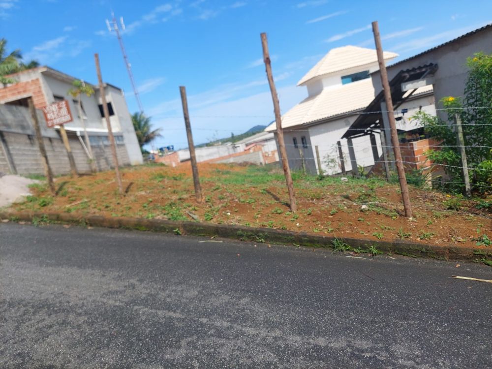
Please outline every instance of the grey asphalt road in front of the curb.
[{"label": "grey asphalt road in front of the curb", "polygon": [[0,224],[0,368],[492,368],[490,267],[210,241]]}]

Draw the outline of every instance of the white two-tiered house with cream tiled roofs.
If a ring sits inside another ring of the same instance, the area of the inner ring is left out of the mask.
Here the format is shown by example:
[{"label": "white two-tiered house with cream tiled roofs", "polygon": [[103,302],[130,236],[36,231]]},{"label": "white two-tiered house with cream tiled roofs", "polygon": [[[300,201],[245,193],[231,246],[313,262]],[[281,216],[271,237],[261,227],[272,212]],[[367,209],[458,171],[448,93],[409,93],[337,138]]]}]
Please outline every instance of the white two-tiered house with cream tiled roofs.
[{"label": "white two-tiered house with cream tiled roofs", "polygon": [[[398,56],[386,51],[383,55],[385,62]],[[374,165],[381,152],[379,136],[365,135],[348,142],[341,137],[374,99],[370,74],[378,69],[376,50],[344,46],[330,50],[301,78],[297,85],[306,86],[308,96],[282,116],[292,169],[304,166],[312,174],[350,171],[349,143],[357,153],[357,165]],[[275,123],[265,130],[275,132]]]}]

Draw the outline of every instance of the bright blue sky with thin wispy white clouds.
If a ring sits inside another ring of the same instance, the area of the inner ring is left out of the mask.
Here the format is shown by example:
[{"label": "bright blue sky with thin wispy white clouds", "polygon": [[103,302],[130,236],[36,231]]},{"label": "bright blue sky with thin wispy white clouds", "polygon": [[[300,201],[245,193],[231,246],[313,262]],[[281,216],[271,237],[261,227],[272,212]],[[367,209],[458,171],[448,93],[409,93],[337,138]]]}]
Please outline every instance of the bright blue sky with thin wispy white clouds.
[{"label": "bright blue sky with thin wispy white clouds", "polygon": [[[260,32],[267,32],[280,107],[307,96],[297,81],[331,48],[373,48],[379,21],[385,50],[410,57],[492,23],[492,1],[335,0],[0,0],[0,37],[37,59],[95,83],[105,81],[137,110],[123,58],[105,19],[123,16],[123,41],[146,114],[163,136],[155,146],[186,147],[179,86],[186,86],[195,143],[242,133],[273,119]],[[399,60],[397,59],[397,60]]]}]

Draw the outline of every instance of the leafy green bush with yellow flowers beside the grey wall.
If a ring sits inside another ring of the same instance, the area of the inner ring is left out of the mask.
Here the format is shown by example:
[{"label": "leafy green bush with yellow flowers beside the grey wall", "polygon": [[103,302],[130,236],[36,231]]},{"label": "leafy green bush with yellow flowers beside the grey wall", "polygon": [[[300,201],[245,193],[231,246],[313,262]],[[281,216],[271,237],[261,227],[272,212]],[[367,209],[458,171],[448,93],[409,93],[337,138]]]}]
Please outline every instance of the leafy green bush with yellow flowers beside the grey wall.
[{"label": "leafy green bush with yellow flowers beside the grey wall", "polygon": [[492,183],[492,55],[477,53],[467,59],[466,65],[463,101],[453,96],[440,101],[447,109],[447,122],[424,112],[414,116],[431,137],[442,141],[439,150],[432,149],[426,154],[435,163],[446,165],[443,168],[450,180],[441,185],[453,192],[464,187],[460,148],[456,144],[456,114],[462,121],[468,166],[477,168],[469,172],[470,183],[475,191],[483,191]]}]

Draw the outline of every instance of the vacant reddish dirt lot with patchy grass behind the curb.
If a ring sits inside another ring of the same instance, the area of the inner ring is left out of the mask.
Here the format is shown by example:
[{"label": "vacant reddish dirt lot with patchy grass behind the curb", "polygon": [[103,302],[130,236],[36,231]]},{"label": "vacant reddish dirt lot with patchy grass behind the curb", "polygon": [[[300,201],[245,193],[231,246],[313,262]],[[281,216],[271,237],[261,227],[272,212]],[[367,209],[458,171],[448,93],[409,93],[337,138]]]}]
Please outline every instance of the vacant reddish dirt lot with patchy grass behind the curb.
[{"label": "vacant reddish dirt lot with patchy grass behind the curb", "polygon": [[[56,180],[59,195],[43,184],[18,210],[84,215],[197,220],[324,233],[338,238],[408,239],[436,245],[491,247],[492,222],[486,200],[463,200],[410,188],[414,219],[403,214],[397,184],[380,179],[318,179],[294,174],[298,212],[292,214],[281,170],[257,166],[199,166],[204,201],[194,198],[191,169],[163,165],[123,170],[125,196],[113,172]],[[485,205],[484,205],[485,204]],[[478,205],[478,208],[477,208]]]}]

